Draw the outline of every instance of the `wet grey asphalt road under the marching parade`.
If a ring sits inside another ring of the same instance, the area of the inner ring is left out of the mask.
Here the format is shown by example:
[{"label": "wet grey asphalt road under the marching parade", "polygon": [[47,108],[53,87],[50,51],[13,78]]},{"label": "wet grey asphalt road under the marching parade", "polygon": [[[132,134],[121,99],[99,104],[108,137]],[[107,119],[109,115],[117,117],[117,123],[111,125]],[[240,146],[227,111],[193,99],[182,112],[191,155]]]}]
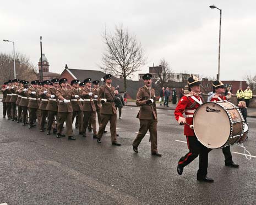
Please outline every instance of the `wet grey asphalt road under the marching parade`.
[{"label": "wet grey asphalt road under the marching parade", "polygon": [[208,176],[215,182],[208,184],[196,179],[198,158],[182,176],[177,174],[177,162],[188,149],[171,110],[158,110],[163,156],[155,157],[149,135],[139,153],[132,150],[139,129],[136,107],[124,107],[118,119],[122,146],[117,147],[111,145],[110,132],[97,144],[92,134],[83,138],[77,129],[76,141],[28,129],[2,118],[0,106],[0,204],[256,204],[255,118],[247,119],[249,140],[244,143],[252,160],[233,145],[231,151],[238,152],[232,153],[233,161],[240,167],[229,168],[220,149],[211,151]]}]

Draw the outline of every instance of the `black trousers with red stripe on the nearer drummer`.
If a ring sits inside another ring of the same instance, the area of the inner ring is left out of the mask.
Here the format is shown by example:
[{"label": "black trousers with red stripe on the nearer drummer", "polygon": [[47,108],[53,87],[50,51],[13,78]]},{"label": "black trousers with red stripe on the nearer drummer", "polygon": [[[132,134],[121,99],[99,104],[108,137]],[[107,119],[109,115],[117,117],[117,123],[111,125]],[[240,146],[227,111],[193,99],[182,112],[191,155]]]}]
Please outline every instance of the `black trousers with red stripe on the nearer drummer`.
[{"label": "black trousers with red stripe on the nearer drummer", "polygon": [[208,152],[211,151],[211,149],[202,145],[197,140],[196,136],[187,136],[187,144],[189,152],[184,157],[181,157],[178,163],[179,166],[187,166],[199,155],[199,169],[197,171],[197,177],[201,178],[206,176],[208,168]]}]

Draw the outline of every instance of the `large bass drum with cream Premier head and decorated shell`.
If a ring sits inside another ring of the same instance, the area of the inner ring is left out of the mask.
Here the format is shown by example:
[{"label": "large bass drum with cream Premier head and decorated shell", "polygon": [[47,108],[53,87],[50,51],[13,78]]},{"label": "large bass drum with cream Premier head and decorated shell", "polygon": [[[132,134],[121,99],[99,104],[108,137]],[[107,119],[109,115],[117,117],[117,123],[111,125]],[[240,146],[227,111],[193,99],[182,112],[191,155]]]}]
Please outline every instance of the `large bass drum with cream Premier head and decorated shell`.
[{"label": "large bass drum with cream Premier head and decorated shell", "polygon": [[201,144],[217,149],[237,143],[244,134],[238,107],[227,101],[204,103],[194,113],[194,132]]}]

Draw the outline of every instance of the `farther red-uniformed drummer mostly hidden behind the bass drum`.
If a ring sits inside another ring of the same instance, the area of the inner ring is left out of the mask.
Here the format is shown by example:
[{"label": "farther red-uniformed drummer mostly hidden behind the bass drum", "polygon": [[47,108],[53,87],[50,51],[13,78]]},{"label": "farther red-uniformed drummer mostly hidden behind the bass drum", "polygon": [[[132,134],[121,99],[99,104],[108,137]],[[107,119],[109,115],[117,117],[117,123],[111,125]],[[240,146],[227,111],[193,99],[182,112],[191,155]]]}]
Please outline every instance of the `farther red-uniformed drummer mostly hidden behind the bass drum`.
[{"label": "farther red-uniformed drummer mostly hidden behind the bass drum", "polygon": [[[218,79],[217,81],[213,82],[213,95],[211,99],[208,99],[208,101],[221,101],[221,100],[226,100],[225,94],[225,86],[224,84]],[[226,146],[222,149],[222,152],[224,153],[225,156],[225,166],[228,167],[234,167],[238,168],[239,165],[235,164],[232,160],[232,155],[230,151],[230,146]]]}]

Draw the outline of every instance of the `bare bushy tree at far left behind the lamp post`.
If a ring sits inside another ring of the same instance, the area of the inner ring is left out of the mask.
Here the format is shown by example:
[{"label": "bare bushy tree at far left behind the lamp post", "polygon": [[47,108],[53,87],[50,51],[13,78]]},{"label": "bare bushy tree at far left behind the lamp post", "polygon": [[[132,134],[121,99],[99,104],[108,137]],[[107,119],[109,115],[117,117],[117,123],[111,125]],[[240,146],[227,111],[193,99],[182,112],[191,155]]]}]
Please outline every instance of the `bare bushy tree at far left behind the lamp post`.
[{"label": "bare bushy tree at far left behind the lamp post", "polygon": [[[37,79],[36,66],[24,54],[15,54],[16,78],[31,81]],[[14,79],[13,55],[0,53],[0,83]]]}]

